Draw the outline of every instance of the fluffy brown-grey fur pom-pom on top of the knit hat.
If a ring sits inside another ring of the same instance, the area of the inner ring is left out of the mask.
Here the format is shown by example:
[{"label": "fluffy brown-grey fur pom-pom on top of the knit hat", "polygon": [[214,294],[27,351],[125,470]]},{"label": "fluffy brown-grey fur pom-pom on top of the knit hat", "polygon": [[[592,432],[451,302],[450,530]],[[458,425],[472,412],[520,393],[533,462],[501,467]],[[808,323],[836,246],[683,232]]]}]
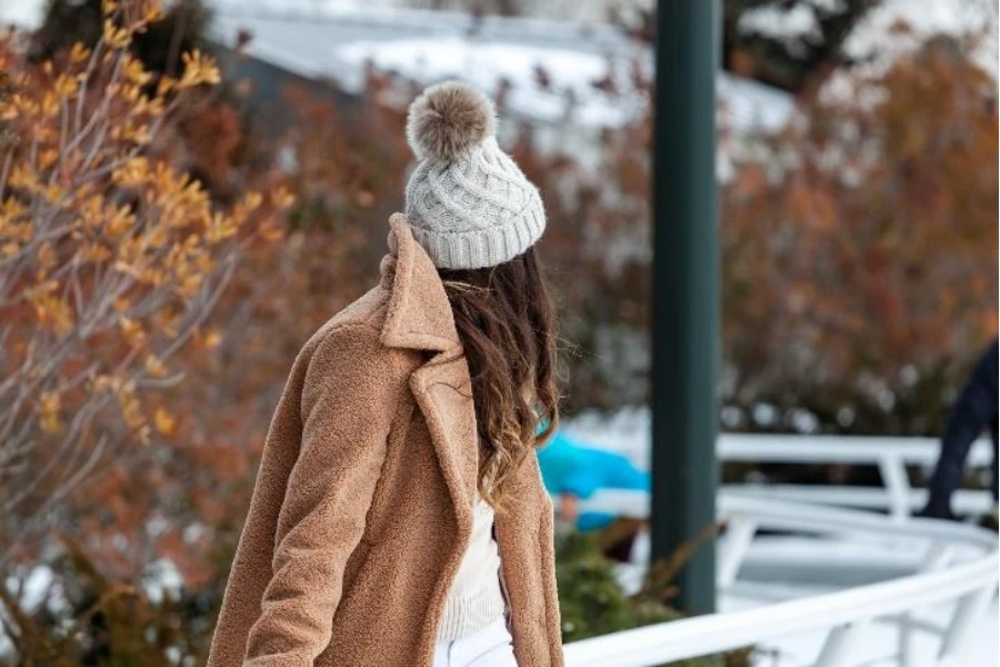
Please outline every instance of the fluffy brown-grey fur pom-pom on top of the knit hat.
[{"label": "fluffy brown-grey fur pom-pom on top of the knit hat", "polygon": [[453,162],[493,136],[496,115],[493,103],[478,90],[444,81],[410,104],[407,140],[420,159]]}]

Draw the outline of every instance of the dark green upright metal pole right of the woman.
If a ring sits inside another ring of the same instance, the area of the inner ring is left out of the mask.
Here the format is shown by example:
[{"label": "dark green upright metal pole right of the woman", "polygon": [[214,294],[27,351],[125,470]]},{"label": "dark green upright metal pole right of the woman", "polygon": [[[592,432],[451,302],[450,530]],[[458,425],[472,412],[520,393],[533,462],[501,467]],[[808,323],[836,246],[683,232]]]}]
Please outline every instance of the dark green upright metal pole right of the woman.
[{"label": "dark green upright metal pole right of the woman", "polygon": [[[716,519],[719,259],[718,0],[660,0],[653,139],[651,556]],[[677,581],[681,609],[716,609],[713,540]]]}]

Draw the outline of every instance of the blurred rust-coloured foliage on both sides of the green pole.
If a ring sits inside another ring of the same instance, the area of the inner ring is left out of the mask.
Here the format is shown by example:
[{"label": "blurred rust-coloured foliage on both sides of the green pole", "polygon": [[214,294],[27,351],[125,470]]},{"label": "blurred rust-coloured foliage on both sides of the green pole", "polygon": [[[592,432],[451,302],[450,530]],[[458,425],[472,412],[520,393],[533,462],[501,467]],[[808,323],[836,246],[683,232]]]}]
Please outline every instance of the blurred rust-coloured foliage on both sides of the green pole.
[{"label": "blurred rust-coloured foliage on both sides of the green pole", "polygon": [[[778,132],[721,123],[723,429],[941,432],[997,332],[996,80],[971,53],[936,38],[819,77]],[[606,131],[594,170],[514,146],[550,216],[571,409],[648,399],[650,137],[650,115]]]}]

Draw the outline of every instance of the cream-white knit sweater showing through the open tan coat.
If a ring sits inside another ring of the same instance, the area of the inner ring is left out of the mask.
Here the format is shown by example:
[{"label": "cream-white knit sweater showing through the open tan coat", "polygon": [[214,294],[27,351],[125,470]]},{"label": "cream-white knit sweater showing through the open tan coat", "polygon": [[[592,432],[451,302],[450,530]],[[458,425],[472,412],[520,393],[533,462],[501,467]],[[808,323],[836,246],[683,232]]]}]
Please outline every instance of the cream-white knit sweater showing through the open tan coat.
[{"label": "cream-white knit sweater showing through the open tan coat", "polygon": [[504,615],[507,600],[500,576],[500,551],[493,539],[493,508],[477,492],[472,535],[444,603],[439,639],[470,635]]}]

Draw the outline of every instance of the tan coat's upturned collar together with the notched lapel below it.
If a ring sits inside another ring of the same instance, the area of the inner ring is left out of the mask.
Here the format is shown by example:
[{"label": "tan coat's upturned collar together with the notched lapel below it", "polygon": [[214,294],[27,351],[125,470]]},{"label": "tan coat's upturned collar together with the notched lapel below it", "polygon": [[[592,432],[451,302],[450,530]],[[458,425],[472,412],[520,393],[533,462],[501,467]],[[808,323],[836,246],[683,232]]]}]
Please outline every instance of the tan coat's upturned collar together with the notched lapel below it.
[{"label": "tan coat's upturned collar together with the notched lapel below it", "polygon": [[382,280],[390,297],[381,339],[389,347],[433,354],[410,376],[410,389],[433,440],[464,544],[479,470],[469,367],[437,268],[413,239],[404,216],[393,215],[389,225],[390,255],[382,260]]}]

